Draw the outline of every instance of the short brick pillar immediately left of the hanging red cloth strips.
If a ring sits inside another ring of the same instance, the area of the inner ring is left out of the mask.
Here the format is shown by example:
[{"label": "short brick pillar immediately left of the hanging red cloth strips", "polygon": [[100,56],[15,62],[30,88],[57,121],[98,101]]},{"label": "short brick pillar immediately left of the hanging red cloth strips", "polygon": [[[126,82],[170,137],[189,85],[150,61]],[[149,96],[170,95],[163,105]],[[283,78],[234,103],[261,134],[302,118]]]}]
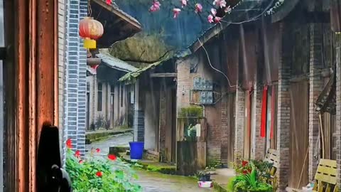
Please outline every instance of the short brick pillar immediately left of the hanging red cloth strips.
[{"label": "short brick pillar immediately left of the hanging red cloth strips", "polygon": [[252,151],[251,151],[251,159],[264,159],[264,151],[265,151],[265,137],[261,137],[261,97],[263,95],[263,87],[261,83],[257,82],[254,86],[254,116],[252,120]]}]

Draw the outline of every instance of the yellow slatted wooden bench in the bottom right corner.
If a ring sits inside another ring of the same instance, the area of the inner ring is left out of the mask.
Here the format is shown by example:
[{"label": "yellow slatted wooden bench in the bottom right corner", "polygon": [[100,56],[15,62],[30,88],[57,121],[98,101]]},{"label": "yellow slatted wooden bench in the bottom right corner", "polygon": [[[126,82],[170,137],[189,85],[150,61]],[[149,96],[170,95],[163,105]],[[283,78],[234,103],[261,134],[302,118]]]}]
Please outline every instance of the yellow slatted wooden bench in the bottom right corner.
[{"label": "yellow slatted wooden bench in the bottom right corner", "polygon": [[337,167],[336,161],[330,159],[320,159],[318,170],[315,174],[315,184],[313,191],[316,192],[336,192]]}]

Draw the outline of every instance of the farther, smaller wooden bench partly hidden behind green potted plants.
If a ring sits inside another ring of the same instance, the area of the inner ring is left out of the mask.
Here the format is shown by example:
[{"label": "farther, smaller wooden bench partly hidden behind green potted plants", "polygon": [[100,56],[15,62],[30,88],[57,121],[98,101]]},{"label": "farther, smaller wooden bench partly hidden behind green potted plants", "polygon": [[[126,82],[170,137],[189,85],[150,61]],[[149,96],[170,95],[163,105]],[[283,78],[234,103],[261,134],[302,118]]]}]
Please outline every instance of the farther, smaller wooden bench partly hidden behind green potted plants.
[{"label": "farther, smaller wooden bench partly hidden behind green potted plants", "polygon": [[270,183],[273,186],[274,191],[276,191],[277,189],[276,171],[278,169],[279,152],[275,149],[268,149],[264,161],[267,161],[272,164],[271,169],[269,169],[268,171],[268,174],[270,174],[268,183]]}]

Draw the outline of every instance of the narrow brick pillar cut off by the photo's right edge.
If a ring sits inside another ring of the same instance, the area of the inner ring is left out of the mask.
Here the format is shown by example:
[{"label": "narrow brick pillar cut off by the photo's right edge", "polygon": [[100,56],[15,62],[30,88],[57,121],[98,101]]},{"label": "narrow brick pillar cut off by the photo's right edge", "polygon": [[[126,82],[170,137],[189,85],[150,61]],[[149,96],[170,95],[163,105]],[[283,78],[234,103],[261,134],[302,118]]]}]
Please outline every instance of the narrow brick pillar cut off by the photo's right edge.
[{"label": "narrow brick pillar cut off by the photo's right edge", "polygon": [[341,35],[336,35],[337,186],[341,188]]}]

